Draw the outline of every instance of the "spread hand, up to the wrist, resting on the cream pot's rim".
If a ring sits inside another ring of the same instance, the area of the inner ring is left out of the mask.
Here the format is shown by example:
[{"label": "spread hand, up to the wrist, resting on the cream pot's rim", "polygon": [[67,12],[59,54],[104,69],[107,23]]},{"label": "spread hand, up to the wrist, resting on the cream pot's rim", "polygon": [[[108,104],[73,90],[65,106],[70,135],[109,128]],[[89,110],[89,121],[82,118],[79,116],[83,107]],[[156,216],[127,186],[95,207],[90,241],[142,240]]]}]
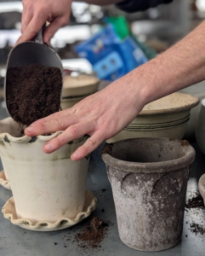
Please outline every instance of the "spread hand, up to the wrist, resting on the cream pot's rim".
[{"label": "spread hand, up to the wrist, resting on the cream pot's rim", "polygon": [[126,77],[119,79],[72,108],[37,120],[25,133],[34,137],[63,131],[43,146],[45,153],[52,153],[65,143],[88,134],[88,140],[71,155],[72,160],[80,160],[104,140],[122,131],[144,107],[140,90],[130,90],[128,83]]}]

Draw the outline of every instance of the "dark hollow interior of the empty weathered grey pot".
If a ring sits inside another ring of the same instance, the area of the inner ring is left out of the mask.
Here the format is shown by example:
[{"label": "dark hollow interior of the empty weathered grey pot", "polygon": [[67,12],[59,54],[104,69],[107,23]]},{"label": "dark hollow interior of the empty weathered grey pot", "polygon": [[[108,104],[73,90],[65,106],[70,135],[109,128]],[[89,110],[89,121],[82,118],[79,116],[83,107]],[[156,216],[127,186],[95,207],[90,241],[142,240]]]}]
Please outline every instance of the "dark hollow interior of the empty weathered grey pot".
[{"label": "dark hollow interior of the empty weathered grey pot", "polygon": [[162,162],[185,156],[188,145],[186,141],[166,138],[128,139],[114,143],[111,156],[128,162]]}]

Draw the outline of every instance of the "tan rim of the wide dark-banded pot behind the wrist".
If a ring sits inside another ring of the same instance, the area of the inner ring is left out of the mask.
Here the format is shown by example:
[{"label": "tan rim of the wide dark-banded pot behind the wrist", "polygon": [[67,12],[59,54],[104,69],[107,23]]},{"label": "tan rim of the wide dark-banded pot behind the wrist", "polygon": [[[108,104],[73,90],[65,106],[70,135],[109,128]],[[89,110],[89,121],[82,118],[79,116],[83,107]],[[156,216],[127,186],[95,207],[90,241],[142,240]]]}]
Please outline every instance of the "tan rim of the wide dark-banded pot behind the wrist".
[{"label": "tan rim of the wide dark-banded pot behind the wrist", "polygon": [[[184,105],[173,107],[173,108],[156,108],[156,109],[142,109],[139,113],[140,116],[147,116],[147,115],[153,115],[153,114],[163,114],[163,113],[178,113],[183,112],[185,110],[189,110],[191,108],[196,107],[196,105],[199,103],[199,98],[196,96],[192,96],[191,94],[182,93],[182,92],[174,92],[172,95],[176,95],[181,97],[181,101],[186,98],[186,102]],[[160,101],[161,99],[157,100]]]}]

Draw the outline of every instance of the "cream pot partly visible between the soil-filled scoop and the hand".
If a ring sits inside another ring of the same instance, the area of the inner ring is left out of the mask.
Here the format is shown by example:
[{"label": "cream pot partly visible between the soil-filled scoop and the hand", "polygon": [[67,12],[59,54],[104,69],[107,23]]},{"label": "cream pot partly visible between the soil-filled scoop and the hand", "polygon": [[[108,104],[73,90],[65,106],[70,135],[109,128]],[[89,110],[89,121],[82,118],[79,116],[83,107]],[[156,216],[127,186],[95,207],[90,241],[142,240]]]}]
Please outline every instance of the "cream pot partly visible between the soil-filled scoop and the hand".
[{"label": "cream pot partly visible between the soil-filled scoop and the hand", "polygon": [[86,96],[98,90],[100,80],[94,76],[77,74],[77,76],[64,75],[61,108],[71,108]]}]

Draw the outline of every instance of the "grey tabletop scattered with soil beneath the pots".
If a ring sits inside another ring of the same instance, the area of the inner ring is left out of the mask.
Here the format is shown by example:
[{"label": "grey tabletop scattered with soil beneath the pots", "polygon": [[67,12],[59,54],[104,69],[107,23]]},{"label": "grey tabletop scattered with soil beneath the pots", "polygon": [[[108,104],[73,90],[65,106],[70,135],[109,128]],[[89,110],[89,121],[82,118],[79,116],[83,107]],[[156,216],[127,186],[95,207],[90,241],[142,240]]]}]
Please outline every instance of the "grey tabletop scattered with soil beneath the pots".
[{"label": "grey tabletop scattered with soil beneath the pots", "polygon": [[[3,108],[0,108],[0,118],[6,117]],[[196,148],[196,143],[192,145]],[[35,232],[24,230],[0,214],[0,255],[1,256],[204,256],[205,255],[205,235],[194,234],[190,230],[190,223],[203,224],[205,226],[205,210],[189,209],[185,211],[185,224],[182,241],[176,247],[158,253],[146,253],[135,251],[125,246],[118,236],[117,218],[114,202],[111,193],[111,185],[107,179],[105,164],[101,160],[100,145],[91,156],[88,168],[87,188],[98,198],[97,208],[92,213],[93,216],[102,218],[109,222],[109,228],[100,248],[85,249],[78,247],[74,236],[81,232],[90,220],[85,219],[76,226],[60,231]],[[1,166],[2,167],[2,166]],[[197,182],[202,173],[205,172],[205,158],[196,148],[196,160],[191,166],[191,177],[188,183],[187,196],[197,190]],[[12,193],[0,187],[0,207],[11,197]],[[102,209],[105,212],[102,212]],[[69,240],[68,240],[69,239]]]}]

